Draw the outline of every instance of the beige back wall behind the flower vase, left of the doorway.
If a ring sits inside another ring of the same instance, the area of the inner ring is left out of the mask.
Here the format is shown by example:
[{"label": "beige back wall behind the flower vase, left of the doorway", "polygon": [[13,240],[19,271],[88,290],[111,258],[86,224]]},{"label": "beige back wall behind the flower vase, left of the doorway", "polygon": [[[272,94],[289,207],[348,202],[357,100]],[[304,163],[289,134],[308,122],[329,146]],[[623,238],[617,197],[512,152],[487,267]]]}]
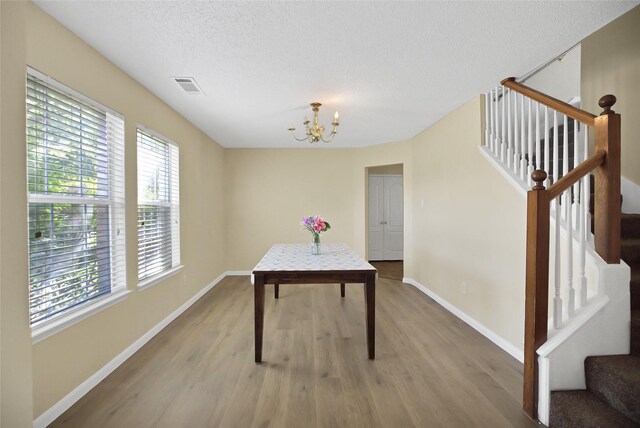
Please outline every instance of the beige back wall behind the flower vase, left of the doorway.
[{"label": "beige back wall behind the flower vase, left of the doorway", "polygon": [[351,149],[226,150],[227,265],[251,270],[274,243],[311,243],[306,215],[331,224],[321,242],[354,246]]}]

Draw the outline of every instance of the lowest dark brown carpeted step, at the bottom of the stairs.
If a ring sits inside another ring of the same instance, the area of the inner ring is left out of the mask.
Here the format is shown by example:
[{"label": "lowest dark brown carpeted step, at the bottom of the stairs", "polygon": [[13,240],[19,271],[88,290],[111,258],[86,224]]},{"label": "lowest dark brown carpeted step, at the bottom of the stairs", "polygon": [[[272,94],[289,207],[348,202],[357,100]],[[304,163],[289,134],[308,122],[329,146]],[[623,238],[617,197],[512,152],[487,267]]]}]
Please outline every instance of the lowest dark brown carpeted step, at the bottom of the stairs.
[{"label": "lowest dark brown carpeted step, at the bottom of the stairs", "polygon": [[586,390],[551,392],[550,427],[634,427],[634,422]]}]

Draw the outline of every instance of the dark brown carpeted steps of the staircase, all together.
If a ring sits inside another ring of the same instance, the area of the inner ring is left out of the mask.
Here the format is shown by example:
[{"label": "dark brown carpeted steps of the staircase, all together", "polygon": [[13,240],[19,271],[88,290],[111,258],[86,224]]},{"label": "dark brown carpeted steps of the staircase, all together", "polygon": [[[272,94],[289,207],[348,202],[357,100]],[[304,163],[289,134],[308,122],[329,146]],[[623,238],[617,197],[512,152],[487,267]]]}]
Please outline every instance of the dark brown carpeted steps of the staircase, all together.
[{"label": "dark brown carpeted steps of the staircase, all together", "polygon": [[640,215],[622,214],[621,226],[621,255],[631,268],[631,354],[587,357],[587,389],[551,393],[550,427],[640,426]]}]

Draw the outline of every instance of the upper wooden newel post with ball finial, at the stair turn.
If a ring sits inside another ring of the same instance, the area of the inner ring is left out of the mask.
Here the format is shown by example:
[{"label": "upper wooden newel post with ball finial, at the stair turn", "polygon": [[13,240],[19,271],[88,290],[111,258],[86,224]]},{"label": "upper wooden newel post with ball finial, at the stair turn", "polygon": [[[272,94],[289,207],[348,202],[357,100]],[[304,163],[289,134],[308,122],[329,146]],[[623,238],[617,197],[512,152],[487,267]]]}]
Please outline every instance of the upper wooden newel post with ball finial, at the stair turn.
[{"label": "upper wooden newel post with ball finial, at the stair turn", "polygon": [[598,105],[604,110],[595,119],[595,149],[607,156],[595,170],[596,252],[607,263],[620,263],[620,115],[611,110],[616,97],[605,95]]}]

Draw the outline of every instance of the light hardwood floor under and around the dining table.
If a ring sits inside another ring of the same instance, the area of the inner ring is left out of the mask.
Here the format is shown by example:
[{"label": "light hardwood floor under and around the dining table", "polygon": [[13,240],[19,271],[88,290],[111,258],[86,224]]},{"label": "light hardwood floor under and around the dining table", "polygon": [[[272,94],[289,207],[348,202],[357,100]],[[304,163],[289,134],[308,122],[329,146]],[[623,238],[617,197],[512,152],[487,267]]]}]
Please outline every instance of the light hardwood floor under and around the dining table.
[{"label": "light hardwood floor under and around the dining table", "polygon": [[409,285],[378,279],[368,360],[363,294],[267,286],[256,364],[251,284],[227,277],[52,426],[536,426],[522,365]]}]

